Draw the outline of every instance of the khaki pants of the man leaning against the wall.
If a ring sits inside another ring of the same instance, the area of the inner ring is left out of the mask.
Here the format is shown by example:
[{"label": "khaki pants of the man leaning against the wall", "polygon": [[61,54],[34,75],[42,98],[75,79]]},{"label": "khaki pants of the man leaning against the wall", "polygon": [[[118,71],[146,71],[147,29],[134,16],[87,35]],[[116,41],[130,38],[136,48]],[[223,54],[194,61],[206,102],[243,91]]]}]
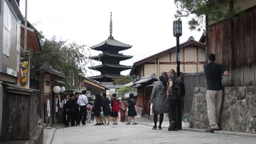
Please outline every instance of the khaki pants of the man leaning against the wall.
[{"label": "khaki pants of the man leaning against the wall", "polygon": [[214,129],[219,129],[218,123],[219,123],[220,107],[222,106],[222,95],[223,95],[222,90],[206,91],[208,118],[210,122],[210,127]]}]

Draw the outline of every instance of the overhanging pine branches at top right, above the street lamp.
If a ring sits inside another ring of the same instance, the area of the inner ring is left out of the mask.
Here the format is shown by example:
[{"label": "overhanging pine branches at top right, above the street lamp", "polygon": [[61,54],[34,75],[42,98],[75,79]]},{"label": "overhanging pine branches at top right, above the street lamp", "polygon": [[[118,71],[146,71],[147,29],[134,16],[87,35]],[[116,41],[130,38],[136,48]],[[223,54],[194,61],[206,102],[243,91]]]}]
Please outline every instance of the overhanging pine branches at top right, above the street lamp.
[{"label": "overhanging pine branches at top right, above the street lamp", "polygon": [[177,19],[191,16],[188,22],[189,28],[201,31],[205,24],[205,16],[208,16],[209,21],[228,19],[239,9],[238,7],[228,9],[223,2],[223,0],[174,0],[178,8],[174,16]]}]

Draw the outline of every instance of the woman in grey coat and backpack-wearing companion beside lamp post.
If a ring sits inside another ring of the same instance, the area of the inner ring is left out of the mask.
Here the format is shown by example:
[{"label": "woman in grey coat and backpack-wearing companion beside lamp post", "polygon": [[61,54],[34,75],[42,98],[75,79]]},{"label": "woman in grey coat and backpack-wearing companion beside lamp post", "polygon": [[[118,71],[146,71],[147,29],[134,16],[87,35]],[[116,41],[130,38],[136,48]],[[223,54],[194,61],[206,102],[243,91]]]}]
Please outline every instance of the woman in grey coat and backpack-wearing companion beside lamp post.
[{"label": "woman in grey coat and backpack-wearing companion beside lamp post", "polygon": [[156,130],[156,124],[158,122],[158,114],[160,115],[158,129],[161,130],[161,124],[164,120],[164,113],[168,112],[168,118],[170,125],[168,127],[169,131],[177,131],[177,109],[180,104],[180,99],[177,97],[176,89],[173,88],[173,82],[177,79],[175,70],[171,69],[159,76],[159,81],[153,87],[150,103],[153,103],[153,113],[154,113],[154,127]]}]

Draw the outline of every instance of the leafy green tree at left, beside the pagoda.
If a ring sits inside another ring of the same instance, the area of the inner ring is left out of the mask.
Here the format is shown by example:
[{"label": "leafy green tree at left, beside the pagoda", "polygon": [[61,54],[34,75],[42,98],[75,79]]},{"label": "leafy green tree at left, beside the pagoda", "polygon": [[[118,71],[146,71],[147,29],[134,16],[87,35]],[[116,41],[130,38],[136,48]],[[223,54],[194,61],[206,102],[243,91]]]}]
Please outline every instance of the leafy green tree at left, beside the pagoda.
[{"label": "leafy green tree at left, beside the pagoda", "polygon": [[66,41],[56,40],[55,37],[41,40],[41,46],[42,51],[39,53],[31,52],[32,79],[43,80],[42,74],[37,71],[41,65],[48,65],[67,76],[67,88],[72,87],[73,78],[80,79],[85,76],[85,66],[91,63],[88,47],[76,43],[67,44]]}]

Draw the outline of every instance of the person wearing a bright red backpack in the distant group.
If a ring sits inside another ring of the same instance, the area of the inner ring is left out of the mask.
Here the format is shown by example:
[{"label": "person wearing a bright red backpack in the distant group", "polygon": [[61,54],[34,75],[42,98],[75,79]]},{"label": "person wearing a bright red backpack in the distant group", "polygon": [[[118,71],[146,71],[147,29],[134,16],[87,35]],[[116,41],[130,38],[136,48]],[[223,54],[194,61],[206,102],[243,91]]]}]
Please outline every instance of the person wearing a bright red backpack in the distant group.
[{"label": "person wearing a bright red backpack in the distant group", "polygon": [[110,104],[111,104],[111,113],[110,113],[110,117],[113,117],[113,124],[117,125],[117,120],[118,120],[118,112],[119,112],[119,104],[118,104],[118,100],[117,98],[117,94],[113,93],[112,94],[113,98],[110,100]]}]

